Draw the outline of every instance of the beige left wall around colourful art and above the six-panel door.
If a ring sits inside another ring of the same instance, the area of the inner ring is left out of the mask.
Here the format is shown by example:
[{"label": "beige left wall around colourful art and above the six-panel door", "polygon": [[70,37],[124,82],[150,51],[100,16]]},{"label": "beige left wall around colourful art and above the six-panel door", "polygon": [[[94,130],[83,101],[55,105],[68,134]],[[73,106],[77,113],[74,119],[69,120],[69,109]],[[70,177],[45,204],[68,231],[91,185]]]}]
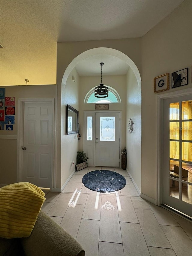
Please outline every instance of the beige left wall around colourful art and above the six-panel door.
[{"label": "beige left wall around colourful art and above the six-panel door", "polygon": [[[6,97],[15,97],[15,125],[13,131],[0,130],[0,136],[17,135],[18,99],[19,98],[55,98],[55,85],[1,86]],[[0,139],[0,184],[16,182],[17,140]]]}]

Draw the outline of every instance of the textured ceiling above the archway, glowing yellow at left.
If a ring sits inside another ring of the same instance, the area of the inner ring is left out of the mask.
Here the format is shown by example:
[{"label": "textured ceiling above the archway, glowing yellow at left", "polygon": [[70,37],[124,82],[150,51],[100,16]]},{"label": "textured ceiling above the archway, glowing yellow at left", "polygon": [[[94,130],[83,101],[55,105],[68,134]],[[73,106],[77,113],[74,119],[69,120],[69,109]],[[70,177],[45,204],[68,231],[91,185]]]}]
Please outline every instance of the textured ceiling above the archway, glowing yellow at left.
[{"label": "textured ceiling above the archway, glowing yellow at left", "polygon": [[0,0],[0,85],[55,84],[57,42],[142,37],[182,2]]}]

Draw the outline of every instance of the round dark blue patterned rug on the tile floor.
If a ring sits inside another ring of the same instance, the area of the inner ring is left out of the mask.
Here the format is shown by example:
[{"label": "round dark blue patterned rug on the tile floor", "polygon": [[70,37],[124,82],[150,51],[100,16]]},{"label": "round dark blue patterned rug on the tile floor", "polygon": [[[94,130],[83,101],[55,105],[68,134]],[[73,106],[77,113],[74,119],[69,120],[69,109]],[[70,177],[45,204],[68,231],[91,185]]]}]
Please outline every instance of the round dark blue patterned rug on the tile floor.
[{"label": "round dark blue patterned rug on the tile floor", "polygon": [[109,170],[96,170],[82,178],[85,187],[97,192],[114,192],[125,187],[126,179],[119,173]]}]

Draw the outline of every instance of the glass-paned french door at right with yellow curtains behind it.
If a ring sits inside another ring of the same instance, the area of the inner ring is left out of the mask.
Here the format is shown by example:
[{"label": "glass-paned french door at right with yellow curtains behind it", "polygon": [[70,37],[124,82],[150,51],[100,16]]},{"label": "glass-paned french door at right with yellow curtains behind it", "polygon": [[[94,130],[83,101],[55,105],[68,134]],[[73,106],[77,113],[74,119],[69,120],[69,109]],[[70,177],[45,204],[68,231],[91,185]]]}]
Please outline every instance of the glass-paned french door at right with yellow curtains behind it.
[{"label": "glass-paned french door at right with yellow curtains behind it", "polygon": [[163,103],[163,204],[192,217],[192,95]]}]

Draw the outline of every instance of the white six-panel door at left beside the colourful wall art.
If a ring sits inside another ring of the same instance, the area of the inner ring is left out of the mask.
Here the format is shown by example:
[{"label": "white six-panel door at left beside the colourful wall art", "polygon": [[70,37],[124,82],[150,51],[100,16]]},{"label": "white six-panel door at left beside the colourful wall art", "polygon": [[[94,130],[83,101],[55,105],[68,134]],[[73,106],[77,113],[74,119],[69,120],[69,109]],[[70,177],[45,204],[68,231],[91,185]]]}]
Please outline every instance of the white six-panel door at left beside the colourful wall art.
[{"label": "white six-panel door at left beside the colourful wall art", "polygon": [[25,102],[22,181],[50,188],[53,141],[52,102]]}]

